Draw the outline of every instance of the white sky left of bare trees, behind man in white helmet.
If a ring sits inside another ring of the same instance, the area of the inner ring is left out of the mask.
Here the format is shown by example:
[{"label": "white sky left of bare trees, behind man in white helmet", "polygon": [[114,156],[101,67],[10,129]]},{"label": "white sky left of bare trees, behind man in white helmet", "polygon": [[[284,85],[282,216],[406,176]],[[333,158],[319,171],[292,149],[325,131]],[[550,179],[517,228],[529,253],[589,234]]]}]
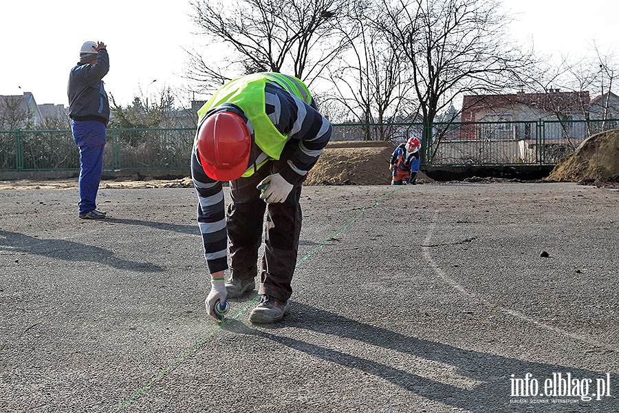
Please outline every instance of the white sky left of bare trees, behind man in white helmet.
[{"label": "white sky left of bare trees, behind man in white helmet", "polygon": [[[140,89],[158,96],[167,86],[186,83],[183,47],[191,49],[196,31],[186,0],[8,4],[0,24],[0,95],[32,92],[39,105],[68,106],[69,71],[85,41],[107,45],[110,70],[103,81],[120,105],[141,96]],[[180,98],[188,101],[188,96]]]}]

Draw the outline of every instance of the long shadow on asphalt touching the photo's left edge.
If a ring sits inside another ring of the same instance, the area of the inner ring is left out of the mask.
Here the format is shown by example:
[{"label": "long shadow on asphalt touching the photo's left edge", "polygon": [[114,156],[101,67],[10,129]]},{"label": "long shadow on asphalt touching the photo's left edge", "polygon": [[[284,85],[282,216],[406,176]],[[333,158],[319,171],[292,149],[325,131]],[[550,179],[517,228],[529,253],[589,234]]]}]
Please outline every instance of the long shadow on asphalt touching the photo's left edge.
[{"label": "long shadow on asphalt touching the photo's left edge", "polygon": [[114,253],[105,248],[80,244],[67,240],[45,240],[40,237],[31,237],[20,233],[0,230],[0,251],[11,253],[25,253],[41,255],[54,260],[74,262],[97,262],[113,266],[114,268],[139,271],[141,273],[153,273],[164,271],[161,266],[148,262],[137,262],[118,258]]}]

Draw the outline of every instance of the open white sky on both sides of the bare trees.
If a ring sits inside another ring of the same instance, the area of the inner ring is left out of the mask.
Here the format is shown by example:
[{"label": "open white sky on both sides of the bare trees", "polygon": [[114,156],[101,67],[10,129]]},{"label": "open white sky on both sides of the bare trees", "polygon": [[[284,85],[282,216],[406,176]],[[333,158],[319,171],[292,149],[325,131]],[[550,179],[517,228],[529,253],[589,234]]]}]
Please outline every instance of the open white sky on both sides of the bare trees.
[{"label": "open white sky on both sides of the bare trees", "polygon": [[[503,0],[503,8],[514,17],[514,39],[532,40],[545,54],[578,56],[594,40],[605,49],[618,45],[616,1]],[[110,71],[103,80],[119,105],[182,89],[183,49],[199,41],[187,0],[9,0],[2,14],[0,95],[32,92],[39,105],[68,105],[69,70],[85,41],[107,45]],[[184,106],[190,99],[177,96]]]}]

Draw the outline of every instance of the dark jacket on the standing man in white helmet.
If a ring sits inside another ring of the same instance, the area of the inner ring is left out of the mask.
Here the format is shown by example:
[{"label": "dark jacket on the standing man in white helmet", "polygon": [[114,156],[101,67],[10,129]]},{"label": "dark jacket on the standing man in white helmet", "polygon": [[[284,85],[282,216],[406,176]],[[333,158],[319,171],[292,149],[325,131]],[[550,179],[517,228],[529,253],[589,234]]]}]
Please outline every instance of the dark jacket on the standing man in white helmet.
[{"label": "dark jacket on the standing man in white helmet", "polygon": [[107,50],[97,52],[94,65],[79,63],[69,74],[69,117],[73,120],[100,120],[109,122],[109,100],[101,80],[109,72]]}]

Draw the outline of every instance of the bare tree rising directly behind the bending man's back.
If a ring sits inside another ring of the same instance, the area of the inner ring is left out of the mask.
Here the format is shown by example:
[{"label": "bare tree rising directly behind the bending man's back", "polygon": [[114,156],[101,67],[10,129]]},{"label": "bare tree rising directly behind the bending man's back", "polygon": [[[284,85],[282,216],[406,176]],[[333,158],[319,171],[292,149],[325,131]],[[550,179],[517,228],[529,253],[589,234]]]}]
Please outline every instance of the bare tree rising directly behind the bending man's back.
[{"label": "bare tree rising directly behind the bending man's back", "polygon": [[286,72],[311,83],[348,46],[336,31],[338,14],[348,3],[194,0],[193,19],[206,37],[208,55],[189,52],[187,76],[207,88],[260,71]]}]

